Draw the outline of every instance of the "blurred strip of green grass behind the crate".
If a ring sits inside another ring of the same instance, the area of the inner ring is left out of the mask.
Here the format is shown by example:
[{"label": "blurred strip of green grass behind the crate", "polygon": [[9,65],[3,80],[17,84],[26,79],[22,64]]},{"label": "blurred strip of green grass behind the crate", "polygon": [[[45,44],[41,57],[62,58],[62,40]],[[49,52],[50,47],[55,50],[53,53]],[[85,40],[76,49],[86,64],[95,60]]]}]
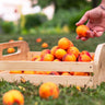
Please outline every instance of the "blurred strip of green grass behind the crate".
[{"label": "blurred strip of green grass behind the crate", "polygon": [[[96,46],[98,44],[102,44],[105,42],[105,35],[96,38],[90,38],[86,42],[78,40],[75,39],[77,34],[75,33],[70,33],[70,34],[56,34],[56,35],[49,35],[49,34],[35,34],[35,35],[0,35],[0,43],[5,43],[9,42],[10,39],[18,40],[18,37],[22,36],[24,40],[26,40],[30,45],[30,50],[33,51],[40,51],[43,48],[40,47],[44,42],[48,43],[49,49],[57,45],[58,39],[61,37],[67,37],[70,40],[73,42],[73,44],[79,48],[79,50],[89,50],[89,51],[95,51]],[[40,37],[43,39],[42,43],[36,43],[36,38]]]}]

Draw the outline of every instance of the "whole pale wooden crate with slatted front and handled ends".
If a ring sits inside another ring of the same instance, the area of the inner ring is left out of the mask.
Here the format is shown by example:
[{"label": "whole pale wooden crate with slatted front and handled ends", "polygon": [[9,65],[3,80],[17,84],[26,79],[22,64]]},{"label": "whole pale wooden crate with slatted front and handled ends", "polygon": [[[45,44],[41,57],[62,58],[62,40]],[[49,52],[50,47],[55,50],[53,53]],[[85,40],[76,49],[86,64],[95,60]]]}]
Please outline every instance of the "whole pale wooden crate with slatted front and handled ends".
[{"label": "whole pale wooden crate with slatted front and handled ends", "polygon": [[[18,47],[18,51],[3,55],[3,50],[10,47]],[[23,40],[0,44],[0,79],[13,82],[23,78],[34,84],[50,81],[62,85],[85,85],[91,88],[95,88],[105,81],[105,43],[97,45],[94,61],[90,62],[31,61],[33,56],[39,54],[39,51],[30,51],[28,44]],[[9,73],[10,70],[78,71],[93,72],[94,75],[11,74]]]}]

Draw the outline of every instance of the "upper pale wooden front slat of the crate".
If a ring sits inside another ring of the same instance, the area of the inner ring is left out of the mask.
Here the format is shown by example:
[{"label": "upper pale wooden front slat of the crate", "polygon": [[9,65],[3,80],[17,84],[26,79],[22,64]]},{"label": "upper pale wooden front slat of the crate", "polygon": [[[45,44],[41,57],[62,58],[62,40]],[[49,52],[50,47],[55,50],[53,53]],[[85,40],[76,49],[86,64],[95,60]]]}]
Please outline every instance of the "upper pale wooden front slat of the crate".
[{"label": "upper pale wooden front slat of the crate", "polygon": [[91,61],[91,62],[0,61],[0,70],[93,72],[93,61]]}]

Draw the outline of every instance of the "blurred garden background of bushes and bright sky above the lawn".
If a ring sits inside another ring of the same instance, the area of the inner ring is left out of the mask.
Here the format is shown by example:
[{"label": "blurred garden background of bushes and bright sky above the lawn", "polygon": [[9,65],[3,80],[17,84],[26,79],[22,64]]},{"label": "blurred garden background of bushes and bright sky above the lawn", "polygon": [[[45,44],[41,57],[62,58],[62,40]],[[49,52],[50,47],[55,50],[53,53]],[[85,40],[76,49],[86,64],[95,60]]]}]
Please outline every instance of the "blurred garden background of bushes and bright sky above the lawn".
[{"label": "blurred garden background of bushes and bright sky above the lawn", "polygon": [[1,34],[74,32],[85,11],[101,0],[0,0]]}]

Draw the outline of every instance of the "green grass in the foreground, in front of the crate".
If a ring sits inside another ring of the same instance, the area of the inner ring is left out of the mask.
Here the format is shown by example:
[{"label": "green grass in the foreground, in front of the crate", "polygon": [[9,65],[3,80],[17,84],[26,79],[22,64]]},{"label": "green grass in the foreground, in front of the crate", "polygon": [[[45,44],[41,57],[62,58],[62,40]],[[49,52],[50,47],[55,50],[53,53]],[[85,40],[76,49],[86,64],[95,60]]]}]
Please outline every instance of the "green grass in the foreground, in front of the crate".
[{"label": "green grass in the foreground, in front of the crate", "polygon": [[59,85],[60,94],[57,100],[43,100],[39,97],[39,85],[35,86],[30,81],[25,83],[9,83],[4,80],[0,81],[0,105],[2,104],[2,96],[9,90],[19,90],[23,95],[24,105],[105,105],[105,83],[102,83],[96,89],[81,88],[81,91],[75,86]]}]

